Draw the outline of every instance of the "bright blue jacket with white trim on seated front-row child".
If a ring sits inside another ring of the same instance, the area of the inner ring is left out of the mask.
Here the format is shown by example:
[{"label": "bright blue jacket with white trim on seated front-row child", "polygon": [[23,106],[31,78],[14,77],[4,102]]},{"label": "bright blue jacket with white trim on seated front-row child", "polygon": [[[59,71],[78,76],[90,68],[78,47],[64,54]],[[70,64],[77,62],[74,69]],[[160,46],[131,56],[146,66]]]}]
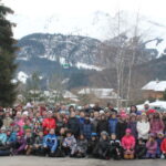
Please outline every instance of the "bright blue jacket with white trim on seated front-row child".
[{"label": "bright blue jacket with white trim on seated front-row child", "polygon": [[44,136],[43,146],[49,147],[52,153],[56,151],[58,147],[58,138],[55,134],[48,134]]}]

